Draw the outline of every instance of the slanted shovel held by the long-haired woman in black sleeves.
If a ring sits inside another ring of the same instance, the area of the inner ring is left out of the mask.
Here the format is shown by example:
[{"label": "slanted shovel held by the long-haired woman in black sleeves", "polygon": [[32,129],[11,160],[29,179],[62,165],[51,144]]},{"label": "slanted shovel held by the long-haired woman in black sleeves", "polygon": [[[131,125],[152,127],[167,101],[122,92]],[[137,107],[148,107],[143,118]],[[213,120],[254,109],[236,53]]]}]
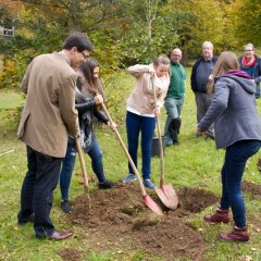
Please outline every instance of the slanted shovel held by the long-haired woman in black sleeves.
[{"label": "slanted shovel held by the long-haired woman in black sleeves", "polygon": [[[105,112],[109,121],[112,123],[112,119],[111,119],[111,116],[110,116],[110,114],[109,114],[109,112],[108,112],[104,103],[101,103],[101,107],[102,107],[103,111]],[[126,149],[126,146],[124,145],[124,142],[123,142],[123,140],[122,140],[122,138],[121,138],[117,129],[115,129],[115,134],[116,134],[116,137],[117,137],[117,139],[119,139],[119,141],[120,141],[120,144],[121,144],[121,146],[122,146],[122,148],[123,148],[123,150],[124,150],[127,159],[128,159],[129,164],[132,165],[132,167],[133,167],[133,170],[134,170],[134,173],[135,173],[136,177],[138,178],[138,183],[139,183],[139,186],[140,186],[140,190],[141,190],[141,195],[142,195],[142,200],[144,200],[144,202],[147,204],[147,207],[148,207],[152,212],[154,212],[154,213],[158,214],[158,215],[163,215],[161,208],[150,198],[149,195],[147,195],[147,192],[146,192],[146,190],[145,190],[145,187],[144,187],[144,184],[142,184],[142,182],[141,182],[140,175],[139,175],[139,173],[138,173],[138,170],[137,170],[137,167],[135,166],[135,164],[134,164],[134,162],[133,162],[133,159],[132,159],[132,157],[129,156],[129,153],[128,153],[128,151],[127,151],[127,149]]]}]

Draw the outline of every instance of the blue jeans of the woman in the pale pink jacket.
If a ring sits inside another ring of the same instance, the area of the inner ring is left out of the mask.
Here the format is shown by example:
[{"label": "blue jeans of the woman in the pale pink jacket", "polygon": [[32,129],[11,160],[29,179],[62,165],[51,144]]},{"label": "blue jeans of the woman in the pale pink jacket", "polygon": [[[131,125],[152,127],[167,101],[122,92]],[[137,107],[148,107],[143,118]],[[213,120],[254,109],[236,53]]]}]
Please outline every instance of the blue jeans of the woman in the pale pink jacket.
[{"label": "blue jeans of the woman in the pale pink jacket", "polygon": [[[128,152],[137,167],[137,151],[139,132],[141,132],[141,154],[142,154],[142,177],[150,178],[150,162],[151,162],[151,142],[154,135],[156,119],[139,116],[128,112],[126,115],[126,128],[128,140]],[[133,167],[128,163],[128,171],[134,174]]]}]

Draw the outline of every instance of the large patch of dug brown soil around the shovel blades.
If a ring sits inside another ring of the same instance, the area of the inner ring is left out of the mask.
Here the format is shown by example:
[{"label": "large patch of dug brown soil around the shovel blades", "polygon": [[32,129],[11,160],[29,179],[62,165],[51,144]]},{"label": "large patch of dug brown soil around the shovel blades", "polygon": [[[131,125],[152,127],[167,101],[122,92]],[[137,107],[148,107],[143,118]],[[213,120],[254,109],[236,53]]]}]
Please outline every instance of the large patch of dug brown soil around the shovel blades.
[{"label": "large patch of dug brown soil around the shovel blades", "polygon": [[177,257],[202,260],[207,246],[203,236],[189,225],[188,217],[217,202],[217,198],[195,188],[178,189],[177,195],[178,208],[166,210],[156,192],[150,192],[164,210],[164,215],[158,216],[144,203],[137,183],[123,184],[113,189],[92,191],[90,210],[86,196],[76,198],[74,212],[67,219],[72,224],[80,225],[82,236],[86,235],[102,248],[112,244],[117,249],[141,249],[162,257],[162,260]]}]

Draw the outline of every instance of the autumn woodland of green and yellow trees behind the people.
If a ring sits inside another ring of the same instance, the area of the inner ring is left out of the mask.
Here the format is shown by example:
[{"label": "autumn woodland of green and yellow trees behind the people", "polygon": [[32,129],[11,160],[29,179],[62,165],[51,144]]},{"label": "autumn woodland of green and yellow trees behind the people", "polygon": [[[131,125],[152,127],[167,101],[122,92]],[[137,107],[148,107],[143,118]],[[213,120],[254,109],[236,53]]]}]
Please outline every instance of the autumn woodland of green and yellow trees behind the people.
[{"label": "autumn woodland of green and yellow trees behind the people", "polygon": [[247,42],[260,47],[260,0],[0,0],[0,26],[15,27],[14,37],[0,36],[0,88],[18,88],[30,60],[60,50],[75,30],[91,39],[108,87],[121,69],[174,47],[185,65],[204,40],[216,54],[243,52]]}]

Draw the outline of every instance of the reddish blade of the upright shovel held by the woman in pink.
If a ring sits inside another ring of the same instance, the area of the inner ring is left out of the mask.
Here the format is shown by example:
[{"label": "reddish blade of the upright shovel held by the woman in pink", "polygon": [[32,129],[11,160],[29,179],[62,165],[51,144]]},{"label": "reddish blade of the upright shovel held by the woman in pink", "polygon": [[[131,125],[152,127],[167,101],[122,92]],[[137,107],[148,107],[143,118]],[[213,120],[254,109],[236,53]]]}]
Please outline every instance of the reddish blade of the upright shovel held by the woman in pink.
[{"label": "reddish blade of the upright shovel held by the woman in pink", "polygon": [[178,198],[171,184],[157,188],[156,192],[166,208],[173,210],[177,208]]}]

